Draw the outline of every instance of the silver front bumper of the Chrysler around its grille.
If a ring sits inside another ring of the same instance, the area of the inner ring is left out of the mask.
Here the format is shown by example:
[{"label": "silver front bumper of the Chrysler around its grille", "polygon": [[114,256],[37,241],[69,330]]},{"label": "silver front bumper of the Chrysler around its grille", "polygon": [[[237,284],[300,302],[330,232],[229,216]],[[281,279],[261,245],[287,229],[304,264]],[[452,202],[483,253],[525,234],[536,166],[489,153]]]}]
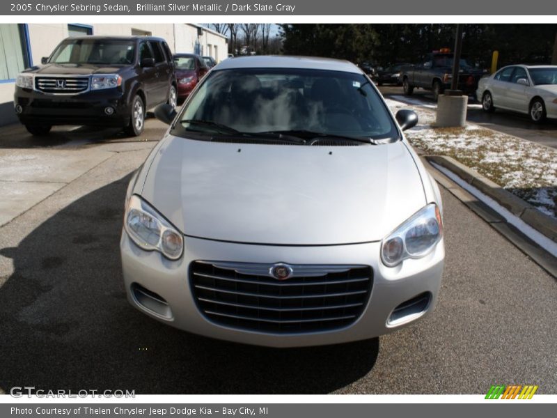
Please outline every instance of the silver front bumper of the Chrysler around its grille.
[{"label": "silver front bumper of the Chrysler around its grille", "polygon": [[[407,260],[394,268],[379,261],[379,242],[330,247],[281,247],[244,245],[185,238],[185,255],[169,261],[157,251],[143,251],[123,231],[120,240],[123,276],[127,298],[143,313],[173,327],[215,339],[258,346],[320,346],[370,339],[397,330],[429,314],[437,301],[444,266],[444,242],[419,260]],[[363,314],[352,325],[323,332],[273,334],[219,325],[199,310],[189,284],[188,268],[192,261],[234,261],[244,263],[358,264],[373,270],[373,285]],[[136,297],[133,286],[139,284],[166,300],[167,311],[154,311]],[[396,325],[387,322],[393,309],[416,295],[428,293],[427,307]]]}]

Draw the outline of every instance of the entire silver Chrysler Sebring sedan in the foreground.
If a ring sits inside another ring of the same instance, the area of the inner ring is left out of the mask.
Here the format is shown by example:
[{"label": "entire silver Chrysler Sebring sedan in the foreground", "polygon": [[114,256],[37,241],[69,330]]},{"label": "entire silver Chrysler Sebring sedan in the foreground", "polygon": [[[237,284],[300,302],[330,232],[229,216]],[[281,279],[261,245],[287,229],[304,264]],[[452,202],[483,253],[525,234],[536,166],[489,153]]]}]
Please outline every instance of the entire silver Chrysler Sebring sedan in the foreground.
[{"label": "entire silver Chrysler Sebring sedan in the foreground", "polygon": [[[130,302],[182,330],[262,346],[368,339],[432,311],[439,189],[352,63],[217,65],[128,188]],[[398,123],[397,123],[398,121]]]}]

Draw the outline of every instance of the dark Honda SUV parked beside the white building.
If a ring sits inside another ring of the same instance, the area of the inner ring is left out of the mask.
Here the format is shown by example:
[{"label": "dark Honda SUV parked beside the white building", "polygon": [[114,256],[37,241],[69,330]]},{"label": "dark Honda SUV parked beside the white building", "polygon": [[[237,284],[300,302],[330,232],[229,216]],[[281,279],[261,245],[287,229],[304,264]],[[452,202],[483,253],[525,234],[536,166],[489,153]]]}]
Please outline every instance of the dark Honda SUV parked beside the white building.
[{"label": "dark Honda SUV parked beside the white building", "polygon": [[174,62],[161,38],[83,36],[63,40],[42,65],[17,76],[15,111],[33,135],[52,125],[143,132],[146,109],[177,100]]}]

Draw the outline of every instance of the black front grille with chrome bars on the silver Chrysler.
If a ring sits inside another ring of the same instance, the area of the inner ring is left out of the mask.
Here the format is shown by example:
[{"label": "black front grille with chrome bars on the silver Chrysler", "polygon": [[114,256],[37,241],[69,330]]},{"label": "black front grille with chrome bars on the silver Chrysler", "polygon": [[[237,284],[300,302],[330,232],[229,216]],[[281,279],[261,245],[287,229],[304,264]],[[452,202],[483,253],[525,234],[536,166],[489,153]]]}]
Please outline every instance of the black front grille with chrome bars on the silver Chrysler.
[{"label": "black front grille with chrome bars on the silver Chrysler", "polygon": [[271,277],[272,264],[194,261],[191,289],[214,323],[272,333],[333,330],[354,323],[366,307],[372,270],[366,265],[291,265],[292,277]]}]

